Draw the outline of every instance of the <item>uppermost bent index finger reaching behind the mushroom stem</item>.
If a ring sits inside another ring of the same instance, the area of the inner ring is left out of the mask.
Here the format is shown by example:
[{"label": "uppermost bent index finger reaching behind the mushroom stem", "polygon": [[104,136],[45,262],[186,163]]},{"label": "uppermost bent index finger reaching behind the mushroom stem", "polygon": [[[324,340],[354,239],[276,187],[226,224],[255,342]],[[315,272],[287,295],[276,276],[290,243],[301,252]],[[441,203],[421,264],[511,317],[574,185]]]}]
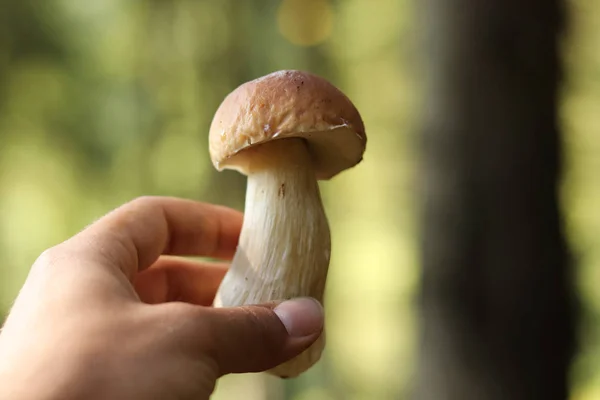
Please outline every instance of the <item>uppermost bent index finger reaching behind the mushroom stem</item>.
[{"label": "uppermost bent index finger reaching behind the mushroom stem", "polygon": [[173,197],[141,197],[96,221],[63,245],[118,266],[130,279],[160,255],[231,258],[239,211]]}]

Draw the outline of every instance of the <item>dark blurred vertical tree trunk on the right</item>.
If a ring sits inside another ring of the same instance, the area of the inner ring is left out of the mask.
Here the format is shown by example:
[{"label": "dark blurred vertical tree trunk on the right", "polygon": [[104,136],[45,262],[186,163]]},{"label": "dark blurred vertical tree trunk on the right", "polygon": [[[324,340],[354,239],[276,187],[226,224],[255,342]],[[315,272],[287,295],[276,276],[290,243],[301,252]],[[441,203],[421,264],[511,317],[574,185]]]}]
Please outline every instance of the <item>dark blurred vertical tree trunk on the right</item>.
[{"label": "dark blurred vertical tree trunk on the right", "polygon": [[560,0],[426,0],[415,398],[564,400],[573,350]]}]

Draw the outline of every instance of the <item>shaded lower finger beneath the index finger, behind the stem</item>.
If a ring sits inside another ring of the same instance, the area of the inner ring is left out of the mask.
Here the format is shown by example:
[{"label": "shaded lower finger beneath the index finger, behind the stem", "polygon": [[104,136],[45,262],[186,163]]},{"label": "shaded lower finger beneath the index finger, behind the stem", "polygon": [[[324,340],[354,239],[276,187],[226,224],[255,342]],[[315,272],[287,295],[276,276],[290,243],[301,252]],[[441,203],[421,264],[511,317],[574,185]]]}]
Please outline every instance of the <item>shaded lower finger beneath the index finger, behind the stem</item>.
[{"label": "shaded lower finger beneath the index finger, behind the stem", "polygon": [[135,277],[134,287],[148,304],[182,301],[210,306],[227,269],[225,263],[162,256]]}]

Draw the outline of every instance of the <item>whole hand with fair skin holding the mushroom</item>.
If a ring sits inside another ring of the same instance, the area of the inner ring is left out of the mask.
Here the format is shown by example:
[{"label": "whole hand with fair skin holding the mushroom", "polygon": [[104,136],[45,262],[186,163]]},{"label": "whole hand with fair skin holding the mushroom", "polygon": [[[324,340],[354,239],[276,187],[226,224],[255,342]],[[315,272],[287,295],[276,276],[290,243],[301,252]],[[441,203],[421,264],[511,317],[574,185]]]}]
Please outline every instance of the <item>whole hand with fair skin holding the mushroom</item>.
[{"label": "whole hand with fair skin holding the mushroom", "polygon": [[312,299],[210,307],[242,215],[134,200],[35,262],[0,334],[2,399],[208,399],[228,373],[272,368],[323,328]]}]

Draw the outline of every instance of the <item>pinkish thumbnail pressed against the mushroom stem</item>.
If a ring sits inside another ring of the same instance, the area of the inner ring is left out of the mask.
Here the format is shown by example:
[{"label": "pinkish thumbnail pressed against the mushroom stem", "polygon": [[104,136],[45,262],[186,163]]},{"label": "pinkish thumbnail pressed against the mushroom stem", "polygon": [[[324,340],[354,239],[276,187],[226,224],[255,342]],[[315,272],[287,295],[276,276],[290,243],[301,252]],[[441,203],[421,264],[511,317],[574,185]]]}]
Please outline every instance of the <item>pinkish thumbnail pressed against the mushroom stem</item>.
[{"label": "pinkish thumbnail pressed against the mushroom stem", "polygon": [[287,300],[273,310],[290,336],[303,337],[323,329],[323,306],[310,297]]}]

